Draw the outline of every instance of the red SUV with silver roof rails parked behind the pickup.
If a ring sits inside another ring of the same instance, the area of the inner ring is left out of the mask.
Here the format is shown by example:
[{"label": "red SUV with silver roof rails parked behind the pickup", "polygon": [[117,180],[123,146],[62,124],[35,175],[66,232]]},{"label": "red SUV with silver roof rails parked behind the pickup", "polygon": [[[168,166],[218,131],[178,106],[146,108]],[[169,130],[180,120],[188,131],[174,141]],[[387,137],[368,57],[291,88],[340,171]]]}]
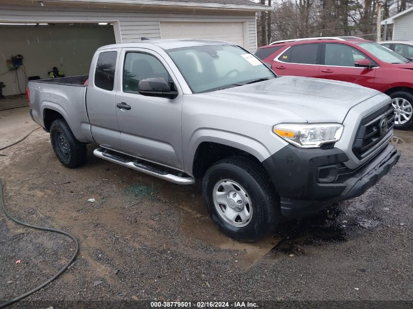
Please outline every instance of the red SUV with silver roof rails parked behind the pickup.
[{"label": "red SUV with silver roof rails parked behind the pickup", "polygon": [[278,75],[354,82],[388,94],[396,110],[395,127],[413,125],[413,62],[378,43],[357,37],[273,42],[256,54]]}]

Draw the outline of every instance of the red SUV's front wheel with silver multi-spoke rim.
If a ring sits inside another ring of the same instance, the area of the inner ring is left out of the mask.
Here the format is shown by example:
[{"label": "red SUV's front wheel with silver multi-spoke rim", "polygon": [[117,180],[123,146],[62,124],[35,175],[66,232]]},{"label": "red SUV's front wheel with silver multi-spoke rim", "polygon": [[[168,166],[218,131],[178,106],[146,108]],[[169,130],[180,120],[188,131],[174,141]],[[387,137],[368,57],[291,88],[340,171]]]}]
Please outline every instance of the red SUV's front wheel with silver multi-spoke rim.
[{"label": "red SUV's front wheel with silver multi-spoke rim", "polygon": [[406,91],[391,93],[391,103],[396,110],[394,127],[405,130],[413,124],[413,95]]}]

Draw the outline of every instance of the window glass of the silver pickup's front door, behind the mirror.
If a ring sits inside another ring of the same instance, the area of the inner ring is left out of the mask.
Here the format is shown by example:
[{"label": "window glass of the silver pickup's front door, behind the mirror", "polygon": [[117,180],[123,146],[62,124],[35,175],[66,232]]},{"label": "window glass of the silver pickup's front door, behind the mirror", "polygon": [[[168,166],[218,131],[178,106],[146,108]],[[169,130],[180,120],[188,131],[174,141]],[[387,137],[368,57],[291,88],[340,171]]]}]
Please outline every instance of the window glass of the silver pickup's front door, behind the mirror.
[{"label": "window glass of the silver pickup's front door, behind the mirror", "polygon": [[124,92],[138,92],[139,81],[155,77],[164,78],[167,82],[172,82],[168,71],[154,56],[139,52],[129,52],[126,54],[123,68]]}]

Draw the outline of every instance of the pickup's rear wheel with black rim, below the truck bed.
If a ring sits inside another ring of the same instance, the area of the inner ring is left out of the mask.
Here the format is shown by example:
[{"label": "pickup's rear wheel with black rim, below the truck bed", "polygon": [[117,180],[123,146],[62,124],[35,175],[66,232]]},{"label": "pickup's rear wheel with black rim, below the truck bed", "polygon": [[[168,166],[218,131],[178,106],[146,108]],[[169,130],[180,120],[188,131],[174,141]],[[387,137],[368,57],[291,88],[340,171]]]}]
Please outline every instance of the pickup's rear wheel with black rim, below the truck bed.
[{"label": "pickup's rear wheel with black rim, below the truck bed", "polygon": [[79,142],[64,119],[56,119],[50,126],[50,142],[57,159],[68,168],[86,164],[87,148]]}]

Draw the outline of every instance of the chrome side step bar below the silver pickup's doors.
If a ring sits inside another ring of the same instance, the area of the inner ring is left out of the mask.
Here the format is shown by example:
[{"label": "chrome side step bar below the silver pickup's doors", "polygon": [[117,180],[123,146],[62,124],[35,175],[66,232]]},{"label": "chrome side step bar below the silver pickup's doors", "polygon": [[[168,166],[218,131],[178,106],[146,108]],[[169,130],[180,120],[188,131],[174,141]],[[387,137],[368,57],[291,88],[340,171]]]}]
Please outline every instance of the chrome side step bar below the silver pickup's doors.
[{"label": "chrome side step bar below the silver pickup's doors", "polygon": [[[111,151],[105,148],[97,148],[93,150],[93,154],[96,157],[104,159],[106,161],[129,167],[139,172],[170,181],[171,183],[174,183],[174,184],[178,184],[178,185],[195,184],[194,177],[177,176],[177,175],[171,174],[170,172],[166,170],[162,170],[160,168],[145,165],[144,160],[131,158],[129,156],[123,156],[122,154],[117,155],[114,151]],[[179,173],[179,171],[176,171],[176,172]]]}]

